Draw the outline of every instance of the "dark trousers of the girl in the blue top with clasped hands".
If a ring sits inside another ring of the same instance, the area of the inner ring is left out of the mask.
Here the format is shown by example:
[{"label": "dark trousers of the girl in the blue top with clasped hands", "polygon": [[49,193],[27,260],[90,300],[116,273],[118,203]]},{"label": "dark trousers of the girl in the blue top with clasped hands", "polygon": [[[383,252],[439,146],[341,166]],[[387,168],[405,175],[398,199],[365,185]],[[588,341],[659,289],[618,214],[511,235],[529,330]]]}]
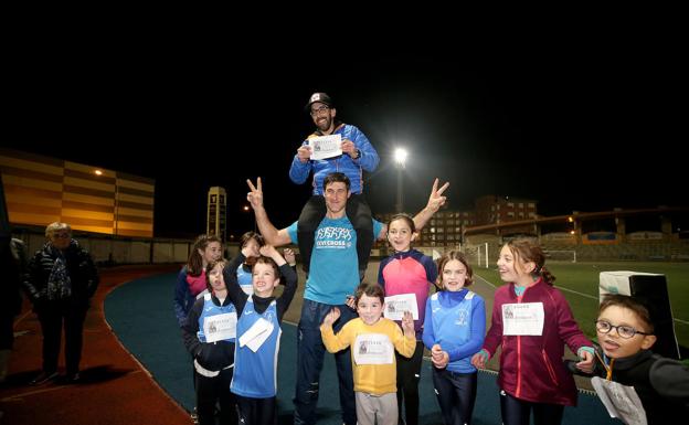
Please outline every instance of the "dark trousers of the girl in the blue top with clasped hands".
[{"label": "dark trousers of the girl in the blue top with clasped hands", "polygon": [[476,372],[458,373],[433,368],[433,386],[445,425],[471,423],[477,381]]}]

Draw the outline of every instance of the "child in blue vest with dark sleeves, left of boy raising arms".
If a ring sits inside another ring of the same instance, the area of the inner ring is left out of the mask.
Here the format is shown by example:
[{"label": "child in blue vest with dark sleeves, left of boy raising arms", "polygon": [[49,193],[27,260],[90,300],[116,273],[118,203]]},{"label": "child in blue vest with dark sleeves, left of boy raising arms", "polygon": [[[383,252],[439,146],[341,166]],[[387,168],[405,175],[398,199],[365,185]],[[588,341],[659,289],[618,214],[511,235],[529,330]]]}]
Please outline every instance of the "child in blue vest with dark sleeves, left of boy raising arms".
[{"label": "child in blue vest with dark sleeves, left of boy raising arms", "polygon": [[209,293],[199,298],[182,327],[184,346],[193,355],[197,383],[199,424],[215,424],[215,405],[220,405],[220,423],[236,424],[236,400],[230,392],[234,368],[234,342],[237,315],[227,297],[221,259],[206,267]]}]

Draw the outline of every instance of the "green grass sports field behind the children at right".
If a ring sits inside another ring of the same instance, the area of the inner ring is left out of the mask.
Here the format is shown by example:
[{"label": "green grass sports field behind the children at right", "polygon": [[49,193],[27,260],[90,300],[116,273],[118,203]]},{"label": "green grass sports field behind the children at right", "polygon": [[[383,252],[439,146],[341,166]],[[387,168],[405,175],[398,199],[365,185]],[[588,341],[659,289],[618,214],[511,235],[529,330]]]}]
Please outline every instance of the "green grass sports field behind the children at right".
[{"label": "green grass sports field behind the children at right", "polygon": [[[476,265],[474,267],[476,275],[492,285],[502,284],[495,265],[488,269]],[[601,272],[629,270],[665,275],[677,340],[680,346],[689,347],[689,263],[548,262],[547,267],[556,277],[555,286],[565,295],[582,330],[592,338],[595,337],[593,321],[598,306],[598,274]]]}]

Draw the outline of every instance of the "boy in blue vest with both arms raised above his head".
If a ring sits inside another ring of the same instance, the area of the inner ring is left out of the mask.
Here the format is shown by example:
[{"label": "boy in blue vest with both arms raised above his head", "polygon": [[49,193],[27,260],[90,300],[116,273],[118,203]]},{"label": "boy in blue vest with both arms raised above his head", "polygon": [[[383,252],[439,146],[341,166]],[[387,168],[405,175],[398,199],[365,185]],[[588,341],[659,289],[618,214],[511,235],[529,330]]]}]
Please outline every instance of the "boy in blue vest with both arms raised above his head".
[{"label": "boy in blue vest with both arms raised above his head", "polygon": [[[275,425],[280,323],[297,289],[297,274],[272,245],[262,246],[259,252],[253,267],[253,295],[242,290],[233,273],[250,254],[246,247],[224,270],[227,294],[239,316],[230,390],[236,395],[242,424]],[[285,288],[283,295],[275,298],[273,290],[282,278]]]}]

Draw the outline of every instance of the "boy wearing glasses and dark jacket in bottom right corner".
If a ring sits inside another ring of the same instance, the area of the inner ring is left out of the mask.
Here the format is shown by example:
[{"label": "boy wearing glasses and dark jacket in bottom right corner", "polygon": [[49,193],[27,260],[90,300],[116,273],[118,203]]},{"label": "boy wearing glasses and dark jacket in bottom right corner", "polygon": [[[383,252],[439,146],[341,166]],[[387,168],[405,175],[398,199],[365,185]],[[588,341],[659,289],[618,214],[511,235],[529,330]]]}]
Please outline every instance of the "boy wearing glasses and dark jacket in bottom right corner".
[{"label": "boy wearing glasses and dark jacket in bottom right corner", "polygon": [[607,296],[595,325],[601,347],[592,383],[611,415],[654,425],[687,417],[689,369],[649,351],[656,337],[646,307],[628,296]]}]

